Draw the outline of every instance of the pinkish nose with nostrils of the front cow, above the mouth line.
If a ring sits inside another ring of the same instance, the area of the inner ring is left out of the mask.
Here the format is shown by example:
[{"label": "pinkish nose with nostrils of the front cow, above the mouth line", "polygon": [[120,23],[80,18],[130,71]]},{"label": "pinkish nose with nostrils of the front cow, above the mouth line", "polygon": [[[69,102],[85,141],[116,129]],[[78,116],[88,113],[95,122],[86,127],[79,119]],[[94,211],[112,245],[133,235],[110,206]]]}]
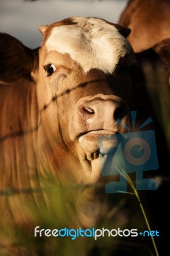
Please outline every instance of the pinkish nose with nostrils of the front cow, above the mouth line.
[{"label": "pinkish nose with nostrils of the front cow, above the mouth line", "polygon": [[128,114],[127,105],[123,101],[112,99],[84,100],[78,106],[79,118],[91,129],[107,129],[115,131],[117,120],[123,120]]}]

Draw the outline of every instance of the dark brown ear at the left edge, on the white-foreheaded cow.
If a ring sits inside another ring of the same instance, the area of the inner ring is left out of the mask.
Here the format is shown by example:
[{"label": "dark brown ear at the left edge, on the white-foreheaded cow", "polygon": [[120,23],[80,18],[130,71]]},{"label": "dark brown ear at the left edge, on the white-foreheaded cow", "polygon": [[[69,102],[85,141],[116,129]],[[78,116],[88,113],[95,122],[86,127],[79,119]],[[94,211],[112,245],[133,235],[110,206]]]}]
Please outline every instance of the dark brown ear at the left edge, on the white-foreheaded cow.
[{"label": "dark brown ear at the left edge, on the white-foreheaded cow", "polygon": [[31,73],[38,68],[37,50],[31,50],[19,40],[0,33],[0,81],[12,83],[25,77],[32,80]]}]

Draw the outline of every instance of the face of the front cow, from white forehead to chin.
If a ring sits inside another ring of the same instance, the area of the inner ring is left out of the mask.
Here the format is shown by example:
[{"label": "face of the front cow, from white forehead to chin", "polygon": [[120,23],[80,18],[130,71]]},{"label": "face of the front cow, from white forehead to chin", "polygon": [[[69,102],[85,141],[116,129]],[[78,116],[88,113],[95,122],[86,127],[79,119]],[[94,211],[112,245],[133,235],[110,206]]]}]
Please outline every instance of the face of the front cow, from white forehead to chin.
[{"label": "face of the front cow, from white forehead to chin", "polygon": [[40,31],[45,36],[37,86],[42,122],[53,145],[60,142],[72,152],[93,182],[100,175],[99,153],[109,154],[100,152],[98,138],[125,132],[118,118],[128,123],[128,72],[135,64],[123,36],[129,31],[83,17],[40,26]]}]

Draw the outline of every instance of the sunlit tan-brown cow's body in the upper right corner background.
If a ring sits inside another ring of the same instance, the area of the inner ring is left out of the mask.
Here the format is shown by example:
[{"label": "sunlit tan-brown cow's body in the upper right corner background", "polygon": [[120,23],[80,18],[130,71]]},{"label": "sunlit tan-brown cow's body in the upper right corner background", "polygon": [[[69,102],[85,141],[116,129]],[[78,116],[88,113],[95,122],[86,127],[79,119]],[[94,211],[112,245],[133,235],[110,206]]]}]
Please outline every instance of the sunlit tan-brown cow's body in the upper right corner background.
[{"label": "sunlit tan-brown cow's body in the upper right corner background", "polygon": [[144,51],[170,37],[170,2],[129,0],[118,24],[132,30],[128,40],[134,51]]}]

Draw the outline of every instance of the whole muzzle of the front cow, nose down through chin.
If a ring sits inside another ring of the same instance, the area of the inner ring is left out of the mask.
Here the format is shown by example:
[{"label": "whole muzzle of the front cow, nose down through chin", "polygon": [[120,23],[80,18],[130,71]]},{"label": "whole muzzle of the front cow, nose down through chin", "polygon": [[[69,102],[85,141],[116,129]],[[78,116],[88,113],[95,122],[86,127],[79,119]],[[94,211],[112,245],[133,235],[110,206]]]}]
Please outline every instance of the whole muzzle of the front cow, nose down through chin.
[{"label": "whole muzzle of the front cow, nose down through chin", "polygon": [[[83,97],[77,102],[73,111],[69,127],[70,138],[79,140],[84,151],[94,156],[98,156],[99,151],[102,154],[109,154],[116,143],[111,136],[125,132],[128,116],[128,106],[120,97],[114,95]],[[101,152],[98,141],[106,136],[108,140],[105,140],[105,148]]]}]

